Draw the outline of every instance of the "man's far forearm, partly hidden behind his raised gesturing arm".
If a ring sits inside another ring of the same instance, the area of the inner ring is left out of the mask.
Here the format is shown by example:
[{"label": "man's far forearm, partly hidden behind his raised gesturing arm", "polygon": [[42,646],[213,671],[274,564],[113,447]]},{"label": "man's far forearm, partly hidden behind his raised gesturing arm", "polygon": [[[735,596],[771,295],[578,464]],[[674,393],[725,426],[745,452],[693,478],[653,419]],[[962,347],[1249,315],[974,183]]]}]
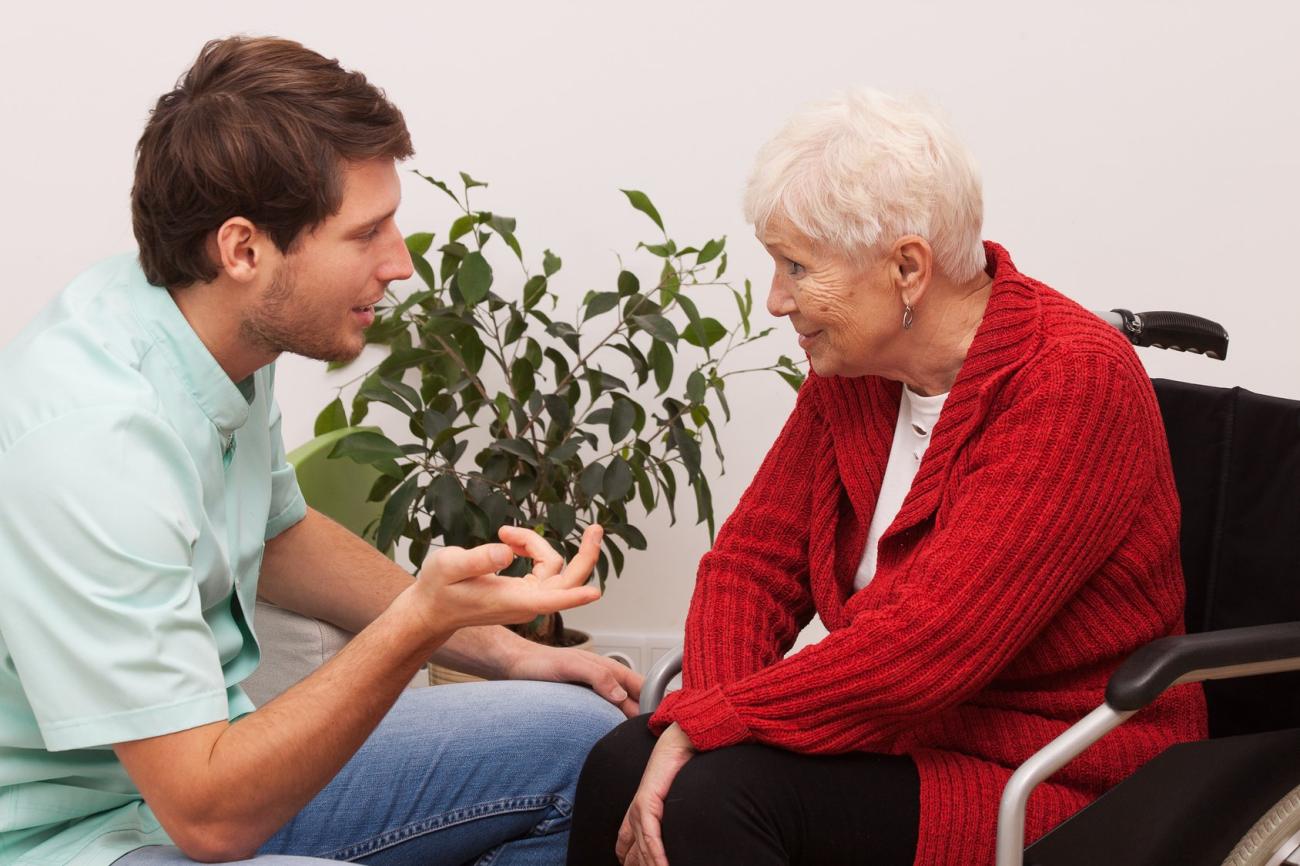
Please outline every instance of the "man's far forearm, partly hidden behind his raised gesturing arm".
[{"label": "man's far forearm, partly hidden behind his raised gesturing arm", "polygon": [[[311,508],[269,542],[257,593],[286,610],[360,632],[415,579],[355,533]],[[434,654],[446,667],[500,679],[529,642],[500,625],[463,628]]]}]

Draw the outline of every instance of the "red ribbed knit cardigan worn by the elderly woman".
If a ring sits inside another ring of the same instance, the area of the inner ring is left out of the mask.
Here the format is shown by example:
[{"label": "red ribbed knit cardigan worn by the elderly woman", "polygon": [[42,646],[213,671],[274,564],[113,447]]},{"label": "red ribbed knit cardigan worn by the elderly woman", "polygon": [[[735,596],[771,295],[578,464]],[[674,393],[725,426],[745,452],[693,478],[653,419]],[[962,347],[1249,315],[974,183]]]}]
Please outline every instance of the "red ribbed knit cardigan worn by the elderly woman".
[{"label": "red ribbed knit cardigan worn by the elderly woman", "polygon": [[[993,863],[1013,768],[1100,705],[1128,653],[1183,628],[1150,380],[1110,325],[985,250],[984,320],[875,579],[853,590],[900,385],[812,374],[699,563],[684,688],[650,720],[699,749],[911,755],[916,866]],[[829,635],[783,659],[814,610]],[[1035,792],[1028,839],[1205,736],[1200,688],[1173,689]]]}]

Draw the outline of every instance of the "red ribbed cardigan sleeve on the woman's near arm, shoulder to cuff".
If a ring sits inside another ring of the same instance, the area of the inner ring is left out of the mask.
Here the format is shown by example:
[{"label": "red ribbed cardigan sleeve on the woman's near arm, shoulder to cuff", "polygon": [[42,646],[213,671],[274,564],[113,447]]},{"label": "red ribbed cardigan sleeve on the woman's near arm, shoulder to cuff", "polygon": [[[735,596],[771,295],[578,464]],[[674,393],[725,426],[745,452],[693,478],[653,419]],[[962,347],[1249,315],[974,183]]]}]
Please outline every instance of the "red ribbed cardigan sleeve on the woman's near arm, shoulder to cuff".
[{"label": "red ribbed cardigan sleeve on the woman's near arm, shoulder to cuff", "polygon": [[1136,361],[1040,361],[976,430],[946,519],[896,566],[906,571],[888,601],[868,607],[863,590],[845,628],[742,679],[670,696],[651,728],[676,722],[699,749],[885,749],[983,689],[1119,545],[1154,477],[1158,410]]}]

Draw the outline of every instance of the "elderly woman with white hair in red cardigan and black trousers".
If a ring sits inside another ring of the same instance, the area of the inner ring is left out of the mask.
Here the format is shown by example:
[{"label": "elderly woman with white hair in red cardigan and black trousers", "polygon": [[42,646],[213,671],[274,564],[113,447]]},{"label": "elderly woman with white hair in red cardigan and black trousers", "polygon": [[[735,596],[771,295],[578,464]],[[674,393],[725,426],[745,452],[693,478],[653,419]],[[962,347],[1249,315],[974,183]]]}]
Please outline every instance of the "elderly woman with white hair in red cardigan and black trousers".
[{"label": "elderly woman with white hair in red cardigan and black trousers", "polygon": [[[699,564],[684,688],[588,759],[569,863],[992,863],[1013,768],[1182,632],[1150,382],[980,242],[975,165],[923,105],[801,113],[745,207],[812,372]],[[786,657],[814,611],[829,635]],[[1039,788],[1028,835],[1202,736],[1173,689]]]}]

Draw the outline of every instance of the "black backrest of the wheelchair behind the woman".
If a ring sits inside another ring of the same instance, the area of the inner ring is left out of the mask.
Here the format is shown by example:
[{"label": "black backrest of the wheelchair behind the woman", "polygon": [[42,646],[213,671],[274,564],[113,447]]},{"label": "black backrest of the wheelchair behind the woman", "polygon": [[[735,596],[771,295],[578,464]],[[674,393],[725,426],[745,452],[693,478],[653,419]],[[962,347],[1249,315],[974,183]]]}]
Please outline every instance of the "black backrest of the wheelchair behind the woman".
[{"label": "black backrest of the wheelchair behind the woman", "polygon": [[[1300,402],[1154,380],[1188,632],[1300,620]],[[1300,727],[1300,674],[1205,684],[1210,736]]]}]

